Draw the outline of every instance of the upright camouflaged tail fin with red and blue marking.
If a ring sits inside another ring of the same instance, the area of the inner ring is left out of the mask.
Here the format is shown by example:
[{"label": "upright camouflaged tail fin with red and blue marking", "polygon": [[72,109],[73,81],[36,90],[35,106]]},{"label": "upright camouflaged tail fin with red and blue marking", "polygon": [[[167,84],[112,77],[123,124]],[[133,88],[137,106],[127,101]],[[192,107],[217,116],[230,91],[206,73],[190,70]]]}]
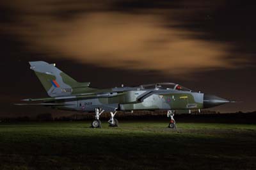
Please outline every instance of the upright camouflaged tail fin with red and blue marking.
[{"label": "upright camouflaged tail fin with red and blue marking", "polygon": [[[50,97],[72,95],[81,93],[81,89],[90,89],[90,82],[77,82],[55,67],[55,64],[49,64],[45,61],[29,62],[31,70],[34,70],[38,79],[42,82],[45,90]],[[77,90],[79,89],[79,90]]]}]

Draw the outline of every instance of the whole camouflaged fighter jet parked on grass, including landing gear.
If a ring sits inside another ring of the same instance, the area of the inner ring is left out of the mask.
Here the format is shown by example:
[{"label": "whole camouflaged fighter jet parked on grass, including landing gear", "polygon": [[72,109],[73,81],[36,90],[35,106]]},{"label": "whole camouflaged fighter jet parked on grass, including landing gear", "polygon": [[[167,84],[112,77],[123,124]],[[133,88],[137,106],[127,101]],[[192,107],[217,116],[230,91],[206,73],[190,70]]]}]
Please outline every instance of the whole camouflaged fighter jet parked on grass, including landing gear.
[{"label": "whole camouflaged fighter jet parked on grass, including landing gear", "polygon": [[117,111],[166,110],[170,118],[169,128],[176,128],[173,118],[175,111],[188,111],[214,107],[230,102],[225,98],[207,95],[200,91],[180,86],[173,82],[142,84],[134,87],[98,89],[90,82],[77,82],[45,61],[29,62],[47,91],[47,98],[28,98],[17,105],[43,105],[70,111],[95,112],[92,128],[100,128],[100,114],[110,112],[109,127],[117,127]]}]

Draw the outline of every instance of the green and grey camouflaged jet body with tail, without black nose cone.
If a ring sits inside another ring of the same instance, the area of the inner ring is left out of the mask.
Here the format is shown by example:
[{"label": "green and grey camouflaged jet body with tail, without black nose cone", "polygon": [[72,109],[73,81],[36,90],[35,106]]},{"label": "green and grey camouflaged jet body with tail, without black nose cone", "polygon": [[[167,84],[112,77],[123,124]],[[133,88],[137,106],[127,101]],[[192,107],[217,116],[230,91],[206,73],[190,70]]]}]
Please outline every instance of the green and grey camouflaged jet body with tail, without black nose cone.
[{"label": "green and grey camouflaged jet body with tail, without black nose cone", "polygon": [[[90,88],[90,82],[77,82],[55,65],[44,61],[29,62],[50,98],[26,99],[43,102],[58,109],[92,112],[105,111],[202,109],[204,93],[178,89],[145,89],[122,87],[112,89]],[[56,81],[56,84],[52,83]],[[56,105],[61,104],[61,105]]]}]

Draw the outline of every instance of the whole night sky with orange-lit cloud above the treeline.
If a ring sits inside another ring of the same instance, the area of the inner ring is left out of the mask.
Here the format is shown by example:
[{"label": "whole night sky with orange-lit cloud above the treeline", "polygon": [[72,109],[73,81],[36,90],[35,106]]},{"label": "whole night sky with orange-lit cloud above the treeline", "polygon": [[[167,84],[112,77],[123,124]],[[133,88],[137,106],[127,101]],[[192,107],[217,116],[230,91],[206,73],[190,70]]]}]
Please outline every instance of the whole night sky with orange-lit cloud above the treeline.
[{"label": "whole night sky with orange-lit cloud above the treeline", "polygon": [[47,97],[29,70],[37,60],[93,87],[177,82],[241,101],[212,110],[255,111],[255,7],[236,0],[2,0],[0,114],[45,112],[12,105]]}]

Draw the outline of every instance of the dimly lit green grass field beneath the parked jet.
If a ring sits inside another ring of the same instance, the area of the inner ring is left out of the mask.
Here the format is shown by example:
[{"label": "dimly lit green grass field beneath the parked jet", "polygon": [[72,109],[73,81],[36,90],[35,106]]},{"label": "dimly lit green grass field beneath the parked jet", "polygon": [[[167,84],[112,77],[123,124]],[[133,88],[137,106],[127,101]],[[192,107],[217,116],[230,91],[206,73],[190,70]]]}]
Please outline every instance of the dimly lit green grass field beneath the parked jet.
[{"label": "dimly lit green grass field beneath the parked jet", "polygon": [[256,169],[256,125],[1,123],[0,169]]}]

